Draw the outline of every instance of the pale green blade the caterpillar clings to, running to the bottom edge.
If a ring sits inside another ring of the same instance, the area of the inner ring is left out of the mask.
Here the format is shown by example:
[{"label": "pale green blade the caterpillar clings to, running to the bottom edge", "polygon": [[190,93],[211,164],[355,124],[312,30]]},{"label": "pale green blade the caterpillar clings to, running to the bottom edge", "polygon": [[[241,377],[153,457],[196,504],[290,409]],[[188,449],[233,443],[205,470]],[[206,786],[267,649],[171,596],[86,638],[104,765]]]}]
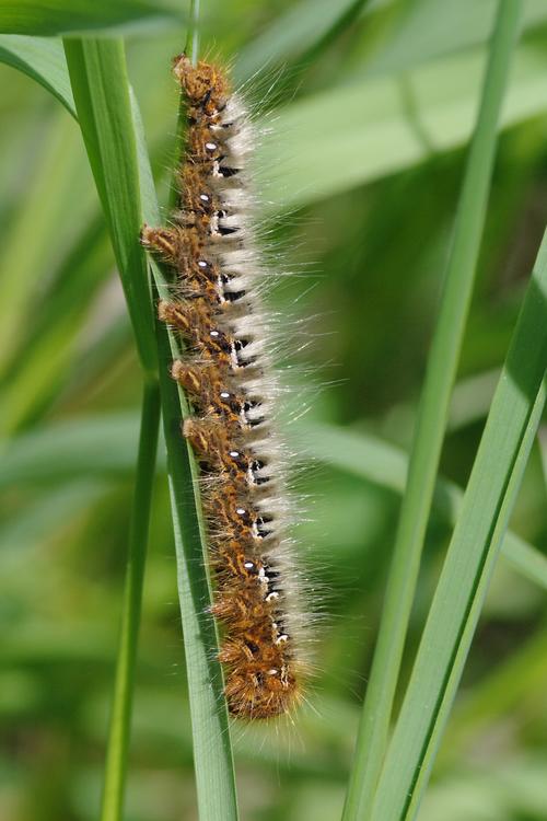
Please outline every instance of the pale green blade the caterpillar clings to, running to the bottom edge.
[{"label": "pale green blade the caterpillar clings to, running to the bottom edge", "polygon": [[[158,327],[158,338],[162,361],[168,361],[173,348],[163,326]],[[166,369],[161,371],[160,379],[199,819],[236,821],[237,801],[223,679],[212,651],[218,647],[218,636],[214,621],[207,612],[211,590],[207,558],[203,557],[203,522],[191,489],[188,490],[193,486],[197,488],[198,474],[193,454],[181,436],[181,408],[187,416],[188,407]]]}]

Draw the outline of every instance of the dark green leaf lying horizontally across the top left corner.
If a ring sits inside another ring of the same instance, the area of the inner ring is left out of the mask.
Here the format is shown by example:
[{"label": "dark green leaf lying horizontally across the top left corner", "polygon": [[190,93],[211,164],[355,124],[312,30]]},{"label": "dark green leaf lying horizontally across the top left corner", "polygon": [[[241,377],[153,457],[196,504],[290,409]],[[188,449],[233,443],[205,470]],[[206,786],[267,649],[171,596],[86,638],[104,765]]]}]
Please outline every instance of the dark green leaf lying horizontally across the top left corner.
[{"label": "dark green leaf lying horizontally across the top left corner", "polygon": [[182,3],[165,0],[0,0],[3,34],[51,36],[175,20],[185,20]]}]

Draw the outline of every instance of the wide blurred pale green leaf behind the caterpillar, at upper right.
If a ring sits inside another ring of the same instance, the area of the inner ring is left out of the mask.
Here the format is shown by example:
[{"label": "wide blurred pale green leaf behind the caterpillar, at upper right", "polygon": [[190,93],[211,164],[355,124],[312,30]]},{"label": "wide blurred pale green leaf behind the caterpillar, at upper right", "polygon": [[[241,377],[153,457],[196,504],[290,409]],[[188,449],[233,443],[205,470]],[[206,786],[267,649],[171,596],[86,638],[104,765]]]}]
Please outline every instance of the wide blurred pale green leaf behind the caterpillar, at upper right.
[{"label": "wide blurred pale green leaf behind the caterpillar, at upper right", "polygon": [[[280,108],[259,148],[260,164],[275,169],[271,208],[306,205],[464,144],[484,57],[477,50],[409,72],[404,84],[399,77],[362,80]],[[543,54],[517,50],[501,128],[546,109],[546,67]]]}]

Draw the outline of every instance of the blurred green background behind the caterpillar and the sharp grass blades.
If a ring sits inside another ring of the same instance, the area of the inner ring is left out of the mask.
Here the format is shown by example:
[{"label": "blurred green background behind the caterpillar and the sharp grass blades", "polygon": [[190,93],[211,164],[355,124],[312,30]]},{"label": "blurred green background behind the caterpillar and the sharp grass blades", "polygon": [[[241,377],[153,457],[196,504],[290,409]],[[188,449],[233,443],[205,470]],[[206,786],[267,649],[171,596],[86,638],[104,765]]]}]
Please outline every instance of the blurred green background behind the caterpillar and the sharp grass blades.
[{"label": "blurred green background behind the caterpillar and the sharp grass blades", "polygon": [[[298,536],[327,613],[313,708],[294,727],[234,726],[245,821],[341,810],[399,504],[389,469],[356,471],[341,443],[349,428],[408,450],[496,3],[371,2],[309,63],[348,5],[203,2],[206,53],[242,81],[266,66],[258,96],[274,82],[258,104],[257,173],[265,229],[296,273],[272,308],[289,325],[309,317],[291,361],[306,363],[292,381],[310,409],[288,435],[310,509]],[[524,5],[442,459],[462,486],[547,215],[547,5]],[[163,203],[170,59],[184,39],[137,26],[127,44]],[[13,69],[0,67],[0,819],[86,821],[98,811],[140,374],[78,127]],[[511,527],[545,550],[542,436]],[[404,678],[449,535],[435,513]],[[547,819],[544,609],[545,592],[501,558],[420,821]],[[127,819],[195,818],[161,449]]]}]

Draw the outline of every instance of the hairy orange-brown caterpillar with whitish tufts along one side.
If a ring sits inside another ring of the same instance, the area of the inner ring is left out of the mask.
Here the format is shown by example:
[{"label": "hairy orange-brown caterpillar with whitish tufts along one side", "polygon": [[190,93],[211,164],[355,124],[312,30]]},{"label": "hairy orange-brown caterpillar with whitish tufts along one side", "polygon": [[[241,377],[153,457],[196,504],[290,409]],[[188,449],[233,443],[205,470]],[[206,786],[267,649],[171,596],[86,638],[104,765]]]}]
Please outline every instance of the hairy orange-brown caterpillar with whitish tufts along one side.
[{"label": "hairy orange-brown caterpillar with whitish tufts along one side", "polygon": [[201,469],[229,709],[270,718],[303,699],[307,662],[272,419],[279,385],[260,297],[268,274],[252,221],[255,132],[223,70],[181,55],[173,71],[187,116],[179,201],[168,227],[144,226],[141,242],[173,274],[158,312],[185,350],[171,374],[194,412],[183,433]]}]

